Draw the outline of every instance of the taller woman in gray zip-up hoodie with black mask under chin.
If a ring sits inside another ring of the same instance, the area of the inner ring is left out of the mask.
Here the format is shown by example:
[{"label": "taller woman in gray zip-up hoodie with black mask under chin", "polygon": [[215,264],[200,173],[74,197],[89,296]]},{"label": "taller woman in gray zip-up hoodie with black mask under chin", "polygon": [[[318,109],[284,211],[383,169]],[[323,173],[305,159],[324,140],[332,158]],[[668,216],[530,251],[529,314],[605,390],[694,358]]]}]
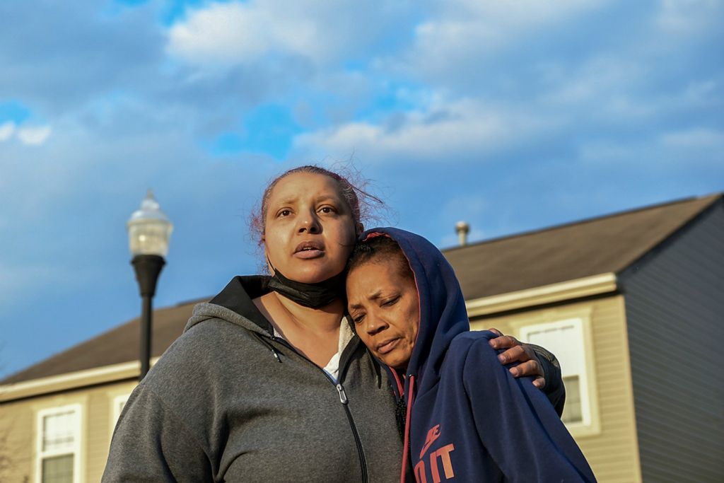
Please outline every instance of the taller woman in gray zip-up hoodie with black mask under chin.
[{"label": "taller woman in gray zip-up hoodie with black mask under chin", "polygon": [[[327,169],[292,169],[266,188],[256,226],[273,275],[235,277],[194,308],[128,400],[104,482],[400,474],[387,375],[345,318],[345,266],[363,229],[358,190]],[[546,374],[560,395],[547,353],[542,364],[529,348],[508,355],[524,361],[523,374]]]}]

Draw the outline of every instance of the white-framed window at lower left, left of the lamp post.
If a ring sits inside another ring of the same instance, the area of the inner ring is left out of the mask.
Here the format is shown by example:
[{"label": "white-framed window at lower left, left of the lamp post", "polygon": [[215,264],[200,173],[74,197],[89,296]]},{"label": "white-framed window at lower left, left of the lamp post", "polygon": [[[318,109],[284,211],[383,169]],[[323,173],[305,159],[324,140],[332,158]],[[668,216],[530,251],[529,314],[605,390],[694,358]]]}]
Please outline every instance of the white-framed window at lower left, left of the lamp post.
[{"label": "white-framed window at lower left, left of the lamp post", "polygon": [[38,483],[80,482],[80,404],[38,411]]}]

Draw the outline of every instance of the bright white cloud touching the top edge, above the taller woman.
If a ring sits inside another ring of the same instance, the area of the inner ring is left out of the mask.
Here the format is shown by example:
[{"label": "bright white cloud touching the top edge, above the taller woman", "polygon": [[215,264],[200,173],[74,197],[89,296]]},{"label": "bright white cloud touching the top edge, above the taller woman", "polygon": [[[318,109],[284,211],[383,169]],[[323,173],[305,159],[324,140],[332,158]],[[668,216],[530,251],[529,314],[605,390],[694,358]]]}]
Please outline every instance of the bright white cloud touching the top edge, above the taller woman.
[{"label": "bright white cloud touching the top edge, above the taller woman", "polygon": [[268,61],[269,56],[301,56],[317,64],[356,54],[369,58],[370,46],[389,36],[390,29],[410,28],[404,23],[412,7],[412,2],[384,0],[211,3],[190,9],[169,28],[167,52],[202,67]]}]

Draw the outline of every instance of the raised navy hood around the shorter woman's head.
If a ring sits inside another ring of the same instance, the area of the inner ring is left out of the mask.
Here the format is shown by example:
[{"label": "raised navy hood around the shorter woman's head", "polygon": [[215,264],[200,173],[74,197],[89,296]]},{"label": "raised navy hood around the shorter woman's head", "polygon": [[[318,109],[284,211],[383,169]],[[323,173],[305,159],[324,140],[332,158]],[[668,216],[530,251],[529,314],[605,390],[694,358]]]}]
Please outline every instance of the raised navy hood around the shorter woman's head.
[{"label": "raised navy hood around the shorter woman's head", "polygon": [[414,376],[420,394],[439,380],[440,367],[452,339],[470,329],[465,298],[445,256],[428,240],[397,228],[373,228],[362,240],[387,236],[395,240],[415,275],[420,320],[407,377]]}]

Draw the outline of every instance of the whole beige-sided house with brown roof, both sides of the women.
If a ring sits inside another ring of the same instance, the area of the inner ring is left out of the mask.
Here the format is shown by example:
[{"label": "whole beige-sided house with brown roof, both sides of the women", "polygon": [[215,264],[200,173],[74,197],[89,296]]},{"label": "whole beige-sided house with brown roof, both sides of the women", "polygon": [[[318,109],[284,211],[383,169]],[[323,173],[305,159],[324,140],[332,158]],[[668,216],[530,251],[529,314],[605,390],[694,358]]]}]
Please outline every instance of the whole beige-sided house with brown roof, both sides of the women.
[{"label": "whole beige-sided house with brown roof, both sides of the women", "polygon": [[[724,481],[724,198],[445,251],[473,329],[560,360],[563,420],[600,482]],[[153,354],[193,303],[156,311]],[[0,385],[0,481],[97,482],[138,375],[138,320]],[[2,437],[4,436],[4,440]]]}]

